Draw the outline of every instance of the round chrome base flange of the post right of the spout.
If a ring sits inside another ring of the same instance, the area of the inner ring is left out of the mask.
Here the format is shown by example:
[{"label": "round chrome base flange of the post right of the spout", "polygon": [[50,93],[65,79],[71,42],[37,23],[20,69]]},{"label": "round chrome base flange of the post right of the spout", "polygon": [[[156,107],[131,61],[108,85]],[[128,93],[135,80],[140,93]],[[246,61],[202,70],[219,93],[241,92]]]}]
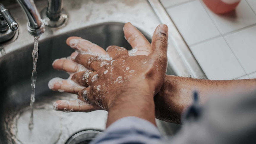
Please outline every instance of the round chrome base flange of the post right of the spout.
[{"label": "round chrome base flange of the post right of the spout", "polygon": [[60,26],[64,25],[65,23],[67,23],[68,16],[64,10],[62,10],[61,16],[58,20],[50,20],[47,17],[46,13],[47,13],[47,7],[45,7],[41,11],[41,18],[46,26],[56,28],[56,27],[60,27]]}]

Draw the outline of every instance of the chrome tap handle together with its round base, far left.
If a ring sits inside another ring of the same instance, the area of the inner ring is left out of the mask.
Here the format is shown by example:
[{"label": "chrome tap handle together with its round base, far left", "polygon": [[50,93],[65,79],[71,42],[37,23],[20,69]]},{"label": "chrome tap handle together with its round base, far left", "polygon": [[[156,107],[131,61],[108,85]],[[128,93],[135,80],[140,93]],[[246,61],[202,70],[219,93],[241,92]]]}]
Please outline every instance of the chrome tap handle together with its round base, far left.
[{"label": "chrome tap handle together with its round base, far left", "polygon": [[10,12],[0,3],[0,43],[12,39],[18,27]]}]

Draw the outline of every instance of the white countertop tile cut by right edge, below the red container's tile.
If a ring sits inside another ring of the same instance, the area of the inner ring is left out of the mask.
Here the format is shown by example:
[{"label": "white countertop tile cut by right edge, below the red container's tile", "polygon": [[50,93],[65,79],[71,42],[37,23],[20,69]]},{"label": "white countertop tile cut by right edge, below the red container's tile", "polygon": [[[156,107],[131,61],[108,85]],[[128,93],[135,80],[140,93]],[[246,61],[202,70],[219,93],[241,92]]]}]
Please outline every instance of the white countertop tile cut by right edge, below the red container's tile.
[{"label": "white countertop tile cut by right edge, below the red container's tile", "polygon": [[256,26],[225,36],[247,74],[256,72]]}]

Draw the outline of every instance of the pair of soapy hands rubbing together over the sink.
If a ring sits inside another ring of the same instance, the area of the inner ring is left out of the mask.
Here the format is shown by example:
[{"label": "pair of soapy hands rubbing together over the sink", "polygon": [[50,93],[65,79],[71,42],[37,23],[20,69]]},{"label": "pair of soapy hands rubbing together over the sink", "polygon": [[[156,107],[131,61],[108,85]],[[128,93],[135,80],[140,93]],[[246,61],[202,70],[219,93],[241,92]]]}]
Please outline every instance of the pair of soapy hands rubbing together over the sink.
[{"label": "pair of soapy hands rubbing together over the sink", "polygon": [[109,57],[104,49],[87,40],[67,39],[67,44],[77,51],[71,59],[56,60],[53,67],[76,73],[69,80],[51,80],[49,87],[70,93],[79,91],[78,99],[82,101],[57,101],[54,106],[58,110],[108,110],[115,102],[122,101],[120,95],[143,92],[142,95],[154,96],[159,91],[167,67],[167,26],[157,27],[152,45],[130,23],[124,26],[124,34],[133,51],[128,53],[125,48],[110,46]]}]

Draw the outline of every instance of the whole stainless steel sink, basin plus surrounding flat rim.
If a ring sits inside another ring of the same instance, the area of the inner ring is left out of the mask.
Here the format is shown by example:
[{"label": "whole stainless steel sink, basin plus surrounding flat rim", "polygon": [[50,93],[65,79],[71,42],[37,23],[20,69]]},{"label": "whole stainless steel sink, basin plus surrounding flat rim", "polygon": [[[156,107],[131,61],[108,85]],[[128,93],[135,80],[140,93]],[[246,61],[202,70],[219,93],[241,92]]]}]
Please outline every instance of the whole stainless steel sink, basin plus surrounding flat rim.
[{"label": "whole stainless steel sink, basin plus surrounding flat rim", "polygon": [[[3,3],[5,1],[9,3],[9,0],[3,0]],[[46,28],[45,34],[39,39],[34,129],[31,131],[28,124],[33,38],[27,33],[26,17],[21,15],[21,8],[15,4],[7,6],[19,23],[19,35],[9,43],[0,44],[0,144],[64,144],[74,137],[82,137],[76,133],[89,135],[91,132],[95,131],[96,134],[104,130],[108,114],[105,111],[63,113],[52,109],[52,103],[56,100],[76,99],[74,94],[54,92],[48,88],[51,78],[68,77],[67,73],[54,70],[52,62],[56,58],[69,56],[74,51],[65,43],[69,36],[88,39],[102,48],[118,45],[131,49],[122,30],[126,22],[137,26],[150,41],[150,34],[161,23],[161,18],[157,17],[152,9],[155,4],[159,10],[159,1],[148,1],[64,0],[64,9],[69,15],[69,21],[61,28]],[[37,0],[36,5],[40,11],[47,5],[47,1]],[[174,46],[177,43],[173,40],[177,37],[170,33],[174,30],[175,27],[169,27],[167,74],[191,75],[187,59],[184,62],[184,58],[180,56],[184,55],[185,50],[182,49],[181,53]],[[187,54],[191,58],[191,54]],[[172,135],[179,127],[159,120],[157,126],[164,136]]]}]

